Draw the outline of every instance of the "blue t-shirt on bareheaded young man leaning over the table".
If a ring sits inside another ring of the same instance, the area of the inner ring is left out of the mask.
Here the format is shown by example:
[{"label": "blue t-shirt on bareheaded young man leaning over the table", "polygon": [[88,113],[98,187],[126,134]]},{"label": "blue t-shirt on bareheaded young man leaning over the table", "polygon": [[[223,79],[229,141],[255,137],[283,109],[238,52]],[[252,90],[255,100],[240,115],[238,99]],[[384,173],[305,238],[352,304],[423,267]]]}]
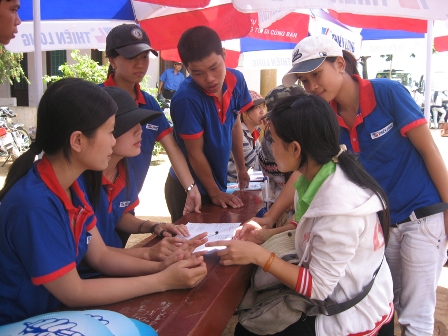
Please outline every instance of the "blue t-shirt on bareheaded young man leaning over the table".
[{"label": "blue t-shirt on bareheaded young man leaning over the table", "polygon": [[[232,129],[238,114],[252,106],[252,98],[241,72],[227,69],[222,86],[222,104],[190,77],[185,79],[171,100],[174,137],[187,159],[201,194],[207,192],[188,161],[185,140],[204,137],[204,155],[221,191],[227,189],[227,164],[232,149]],[[170,174],[176,177],[171,167]]]}]

